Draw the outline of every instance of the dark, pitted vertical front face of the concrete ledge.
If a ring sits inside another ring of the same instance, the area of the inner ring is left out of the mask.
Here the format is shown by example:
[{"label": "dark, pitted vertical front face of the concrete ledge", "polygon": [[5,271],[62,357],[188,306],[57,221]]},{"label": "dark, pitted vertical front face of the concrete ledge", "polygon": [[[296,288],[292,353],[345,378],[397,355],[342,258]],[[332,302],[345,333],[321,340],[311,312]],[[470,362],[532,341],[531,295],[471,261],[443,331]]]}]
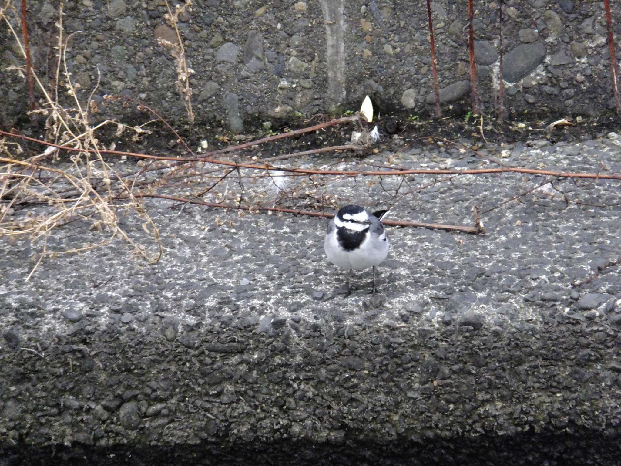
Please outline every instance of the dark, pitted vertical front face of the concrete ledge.
[{"label": "dark, pitted vertical front face of the concrete ledge", "polygon": [[81,329],[50,342],[45,359],[4,352],[2,445],[9,457],[17,442],[35,457],[65,444],[93,459],[118,449],[188,460],[224,447],[241,459],[299,452],[290,464],[321,451],[350,459],[340,464],[421,454],[481,464],[507,451],[530,452],[516,464],[614,464],[597,459],[611,461],[621,438],[618,338],[552,320],[509,331],[335,325],[301,337],[285,326],[243,340],[204,329],[188,348]]}]

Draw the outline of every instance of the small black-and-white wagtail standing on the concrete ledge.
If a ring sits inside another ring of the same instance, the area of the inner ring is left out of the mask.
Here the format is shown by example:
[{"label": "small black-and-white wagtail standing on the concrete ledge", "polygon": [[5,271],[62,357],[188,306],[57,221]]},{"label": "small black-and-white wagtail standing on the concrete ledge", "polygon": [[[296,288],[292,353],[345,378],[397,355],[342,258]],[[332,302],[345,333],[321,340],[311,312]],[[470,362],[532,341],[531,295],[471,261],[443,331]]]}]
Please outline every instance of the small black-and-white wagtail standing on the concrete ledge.
[{"label": "small black-and-white wagtail standing on the concrete ledge", "polygon": [[[381,219],[386,211],[369,212],[350,204],[341,208],[328,224],[324,250],[330,262],[345,270],[373,267],[373,293],[375,293],[375,266],[388,256],[388,238]],[[351,290],[351,288],[350,288]]]}]

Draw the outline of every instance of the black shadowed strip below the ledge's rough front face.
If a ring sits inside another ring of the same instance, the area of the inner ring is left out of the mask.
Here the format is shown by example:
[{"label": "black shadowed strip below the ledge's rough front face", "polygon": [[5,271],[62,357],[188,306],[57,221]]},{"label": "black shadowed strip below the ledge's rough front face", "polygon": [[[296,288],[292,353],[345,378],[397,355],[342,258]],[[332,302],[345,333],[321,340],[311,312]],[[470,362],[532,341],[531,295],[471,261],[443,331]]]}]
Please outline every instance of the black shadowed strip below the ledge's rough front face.
[{"label": "black shadowed strip below the ledge's rough front face", "polygon": [[458,437],[383,444],[346,441],[312,444],[279,441],[270,444],[112,445],[101,448],[74,444],[33,447],[22,443],[0,447],[0,466],[117,465],[619,465],[621,430],[540,435]]}]

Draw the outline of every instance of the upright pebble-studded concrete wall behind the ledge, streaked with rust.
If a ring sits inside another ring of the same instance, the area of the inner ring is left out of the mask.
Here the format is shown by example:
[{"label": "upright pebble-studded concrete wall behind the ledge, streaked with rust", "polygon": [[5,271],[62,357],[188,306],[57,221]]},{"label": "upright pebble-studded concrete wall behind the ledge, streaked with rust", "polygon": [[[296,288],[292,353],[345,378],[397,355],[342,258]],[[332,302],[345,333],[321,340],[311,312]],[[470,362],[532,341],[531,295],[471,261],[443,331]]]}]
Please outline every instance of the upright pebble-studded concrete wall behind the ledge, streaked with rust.
[{"label": "upright pebble-studded concrete wall behind the ledge, streaked with rust", "polygon": [[[186,111],[176,88],[163,0],[79,0],[64,4],[66,64],[86,101],[124,94],[181,124]],[[174,8],[174,4],[171,6]],[[476,59],[484,112],[494,112],[499,30],[497,2],[475,0]],[[615,37],[621,14],[615,5]],[[432,2],[443,111],[469,109],[467,3]],[[19,32],[16,12],[8,12]],[[55,75],[56,2],[29,2],[35,70],[46,85]],[[233,132],[273,119],[357,110],[365,94],[384,114],[430,114],[432,73],[424,1],[194,0],[179,17],[196,124]],[[2,24],[0,122],[13,126],[27,109],[22,65]],[[505,106],[508,116],[602,114],[612,107],[612,77],[603,2],[509,0],[505,3]],[[621,47],[617,48],[621,58]],[[61,76],[62,78],[62,76]],[[65,89],[61,100],[70,103]],[[40,91],[37,98],[41,98]],[[134,107],[99,106],[94,120],[144,119]]]}]

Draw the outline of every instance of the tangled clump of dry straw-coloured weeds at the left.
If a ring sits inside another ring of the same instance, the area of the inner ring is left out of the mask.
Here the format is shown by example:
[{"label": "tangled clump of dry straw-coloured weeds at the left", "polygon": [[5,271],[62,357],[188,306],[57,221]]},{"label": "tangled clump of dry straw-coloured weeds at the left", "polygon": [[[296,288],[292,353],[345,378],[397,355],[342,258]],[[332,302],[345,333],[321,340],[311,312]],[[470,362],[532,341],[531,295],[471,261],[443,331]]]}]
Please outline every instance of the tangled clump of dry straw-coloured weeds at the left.
[{"label": "tangled clump of dry straw-coloured weeds at the left", "polygon": [[[24,45],[7,17],[9,13],[17,14],[10,2],[0,11],[0,19],[4,20],[22,55],[26,57]],[[96,130],[107,124],[116,124],[117,132],[127,126],[113,121],[91,126],[88,121],[91,109],[88,105],[83,105],[76,96],[79,86],[72,83],[65,60],[71,35],[63,37],[62,17],[60,4],[57,22],[57,79],[52,95],[32,70],[32,76],[44,95],[39,103],[40,108],[34,112],[45,117],[46,139],[53,141],[53,145],[33,157],[17,160],[15,157],[22,152],[22,147],[4,139],[0,140],[0,153],[4,155],[0,157],[0,163],[3,164],[0,165],[0,199],[6,201],[0,204],[0,237],[9,240],[24,237],[30,239],[34,245],[42,245],[39,259],[27,279],[45,257],[93,249],[110,244],[117,238],[128,242],[138,255],[151,262],[157,262],[162,252],[158,229],[148,216],[142,199],[134,196],[133,186],[104,159],[102,145],[96,138]],[[21,73],[22,70],[16,68],[16,71]],[[64,89],[58,87],[59,76],[64,77]],[[59,93],[62,92],[73,98],[72,108],[60,105]],[[142,127],[135,130],[145,132]],[[58,149],[55,146],[71,147],[75,150],[70,162],[58,163]],[[59,166],[62,168],[58,168]],[[118,199],[119,193],[125,194],[121,200]],[[44,209],[40,211],[44,213],[40,214],[18,215],[17,210],[22,204],[43,204],[51,209]],[[155,241],[157,252],[149,252],[145,245],[120,227],[119,217],[127,214],[142,219],[143,229]],[[87,244],[77,249],[48,250],[50,233],[75,221],[89,222],[93,229],[107,233],[106,239],[99,244]]]}]

